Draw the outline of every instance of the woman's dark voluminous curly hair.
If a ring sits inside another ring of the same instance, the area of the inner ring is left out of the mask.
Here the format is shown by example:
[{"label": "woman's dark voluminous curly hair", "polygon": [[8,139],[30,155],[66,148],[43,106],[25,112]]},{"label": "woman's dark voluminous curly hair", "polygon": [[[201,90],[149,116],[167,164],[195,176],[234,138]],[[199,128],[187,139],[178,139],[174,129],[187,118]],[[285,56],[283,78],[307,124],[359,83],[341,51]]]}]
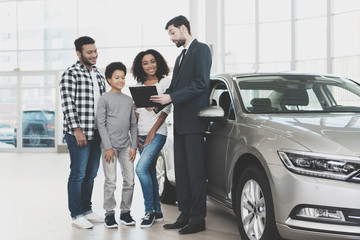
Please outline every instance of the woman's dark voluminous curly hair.
[{"label": "woman's dark voluminous curly hair", "polygon": [[159,79],[159,81],[167,76],[170,72],[168,64],[164,57],[154,49],[148,49],[146,51],[142,51],[136,55],[134,62],[131,67],[131,72],[134,76],[134,79],[139,83],[144,83],[146,81],[146,73],[142,67],[142,59],[145,55],[151,54],[154,56],[156,61],[157,70],[155,75]]}]

